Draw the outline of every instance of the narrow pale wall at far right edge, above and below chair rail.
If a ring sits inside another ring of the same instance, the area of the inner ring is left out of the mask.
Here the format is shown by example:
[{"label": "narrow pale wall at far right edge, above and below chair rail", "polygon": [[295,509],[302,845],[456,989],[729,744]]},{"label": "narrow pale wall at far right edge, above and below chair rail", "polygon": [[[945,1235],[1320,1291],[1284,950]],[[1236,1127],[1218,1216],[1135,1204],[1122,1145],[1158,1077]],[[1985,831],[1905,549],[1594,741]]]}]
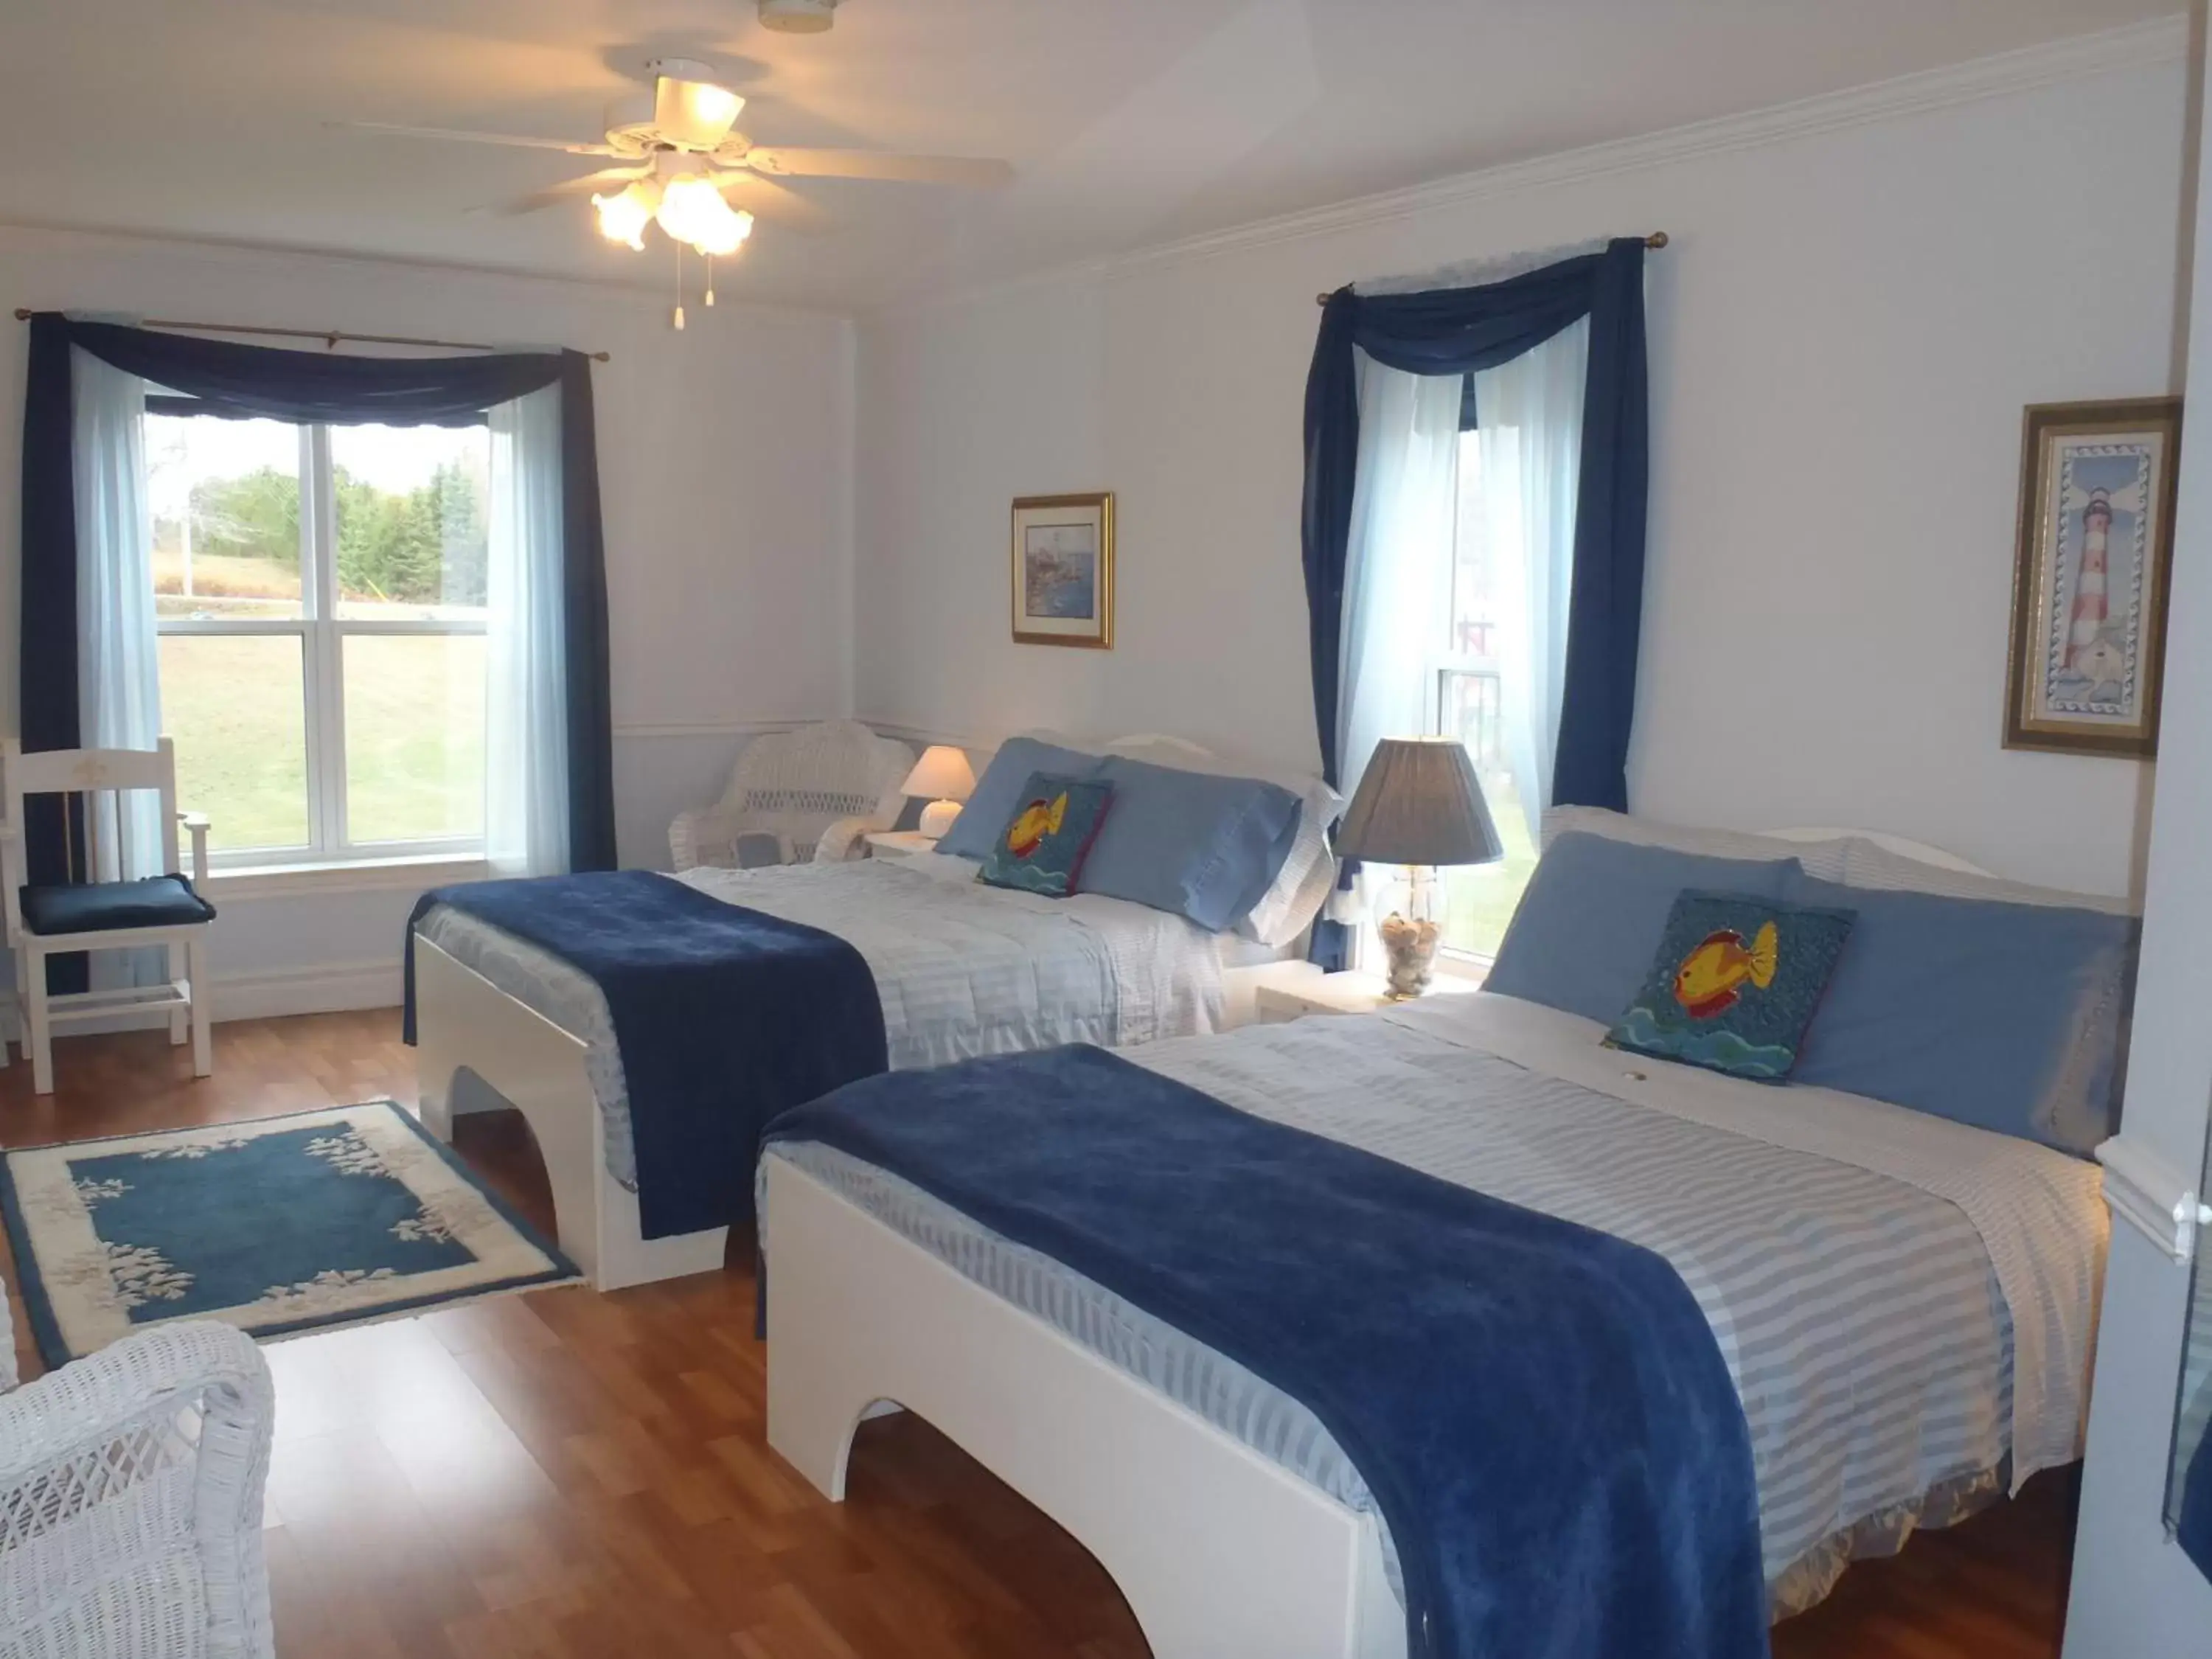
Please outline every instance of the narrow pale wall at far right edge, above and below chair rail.
[{"label": "narrow pale wall at far right edge, above and below chair rail", "polygon": [[[2199,157],[2194,219],[2194,307],[2190,385],[2212,385],[2212,204]],[[2143,960],[2128,1051],[2121,1133],[2168,1172],[2161,1203],[2194,1190],[2212,1099],[2212,431],[2181,438],[2181,515],[2174,542],[2174,606],[2166,668],[2166,730],[2150,827],[2150,891]],[[2212,1243],[2199,1241],[2199,1254]],[[2212,1261],[2199,1261],[2212,1274]],[[2212,1584],[2166,1537],[2161,1522],[2174,1394],[2181,1371],[2190,1270],[2148,1239],[2115,1225],[2097,1327],[2081,1524],[2066,1659],[2135,1659],[2212,1648]]]}]

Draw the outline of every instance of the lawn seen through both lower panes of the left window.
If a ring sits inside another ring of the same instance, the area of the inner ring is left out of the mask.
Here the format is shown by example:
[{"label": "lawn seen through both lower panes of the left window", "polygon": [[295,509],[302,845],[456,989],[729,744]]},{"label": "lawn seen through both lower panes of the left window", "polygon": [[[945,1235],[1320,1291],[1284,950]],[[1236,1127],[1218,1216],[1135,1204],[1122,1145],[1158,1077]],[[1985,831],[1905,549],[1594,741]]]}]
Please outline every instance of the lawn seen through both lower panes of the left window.
[{"label": "lawn seen through both lower panes of the left window", "polygon": [[[301,684],[296,637],[161,637],[161,730],[177,741],[177,803],[212,818],[212,847],[307,843]],[[349,637],[345,712],[352,841],[482,832],[482,635]]]}]

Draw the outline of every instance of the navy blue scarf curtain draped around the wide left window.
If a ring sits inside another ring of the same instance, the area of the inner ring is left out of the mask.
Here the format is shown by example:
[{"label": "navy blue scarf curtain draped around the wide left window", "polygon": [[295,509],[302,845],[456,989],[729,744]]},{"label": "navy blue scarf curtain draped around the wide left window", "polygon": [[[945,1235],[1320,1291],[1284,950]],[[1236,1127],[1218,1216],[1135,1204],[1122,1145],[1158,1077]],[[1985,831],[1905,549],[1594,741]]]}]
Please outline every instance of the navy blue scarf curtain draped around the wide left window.
[{"label": "navy blue scarf curtain draped around the wide left window", "polygon": [[[562,389],[562,557],[568,644],[568,856],[615,867],[613,712],[608,701],[606,544],[591,361],[580,352],[361,358],[285,352],[117,323],[31,319],[22,422],[22,743],[77,745],[77,524],[69,352],[82,347],[150,385],[204,398],[232,418],[327,425],[451,425],[549,385]],[[55,807],[58,803],[44,803]],[[60,880],[69,830],[55,812],[29,825],[33,880]],[[64,987],[60,980],[55,989]]]}]

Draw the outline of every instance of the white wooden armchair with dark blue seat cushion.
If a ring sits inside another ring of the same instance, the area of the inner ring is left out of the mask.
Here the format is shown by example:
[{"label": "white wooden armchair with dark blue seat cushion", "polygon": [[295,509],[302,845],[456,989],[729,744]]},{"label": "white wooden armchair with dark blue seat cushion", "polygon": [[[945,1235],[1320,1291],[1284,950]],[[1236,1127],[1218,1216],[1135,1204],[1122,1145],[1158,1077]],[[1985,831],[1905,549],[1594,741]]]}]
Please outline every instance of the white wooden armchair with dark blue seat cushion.
[{"label": "white wooden armchair with dark blue seat cushion", "polygon": [[[192,1040],[192,1075],[215,1071],[208,1040],[208,922],[215,907],[192,883],[184,880],[177,860],[177,825],[192,834],[192,880],[208,878],[208,821],[197,812],[177,812],[177,750],[164,737],[153,750],[40,750],[24,754],[22,743],[0,743],[0,768],[7,774],[7,838],[0,841],[0,885],[7,887],[7,931],[15,947],[15,1000],[22,1018],[22,1048],[31,1060],[31,1086],[53,1093],[53,1026],[95,1020],[133,1006],[166,1006],[168,1040]],[[144,863],[131,845],[128,821],[139,816],[122,810],[122,796],[150,790],[161,799],[159,876],[139,880],[100,880],[104,872],[126,872]],[[84,869],[71,869],[71,880],[33,885],[27,874],[24,799],[60,794],[82,801]],[[161,947],[168,982],[124,987],[113,991],[46,991],[46,958],[69,951],[122,951]],[[184,951],[184,973],[177,973],[177,951]]]}]

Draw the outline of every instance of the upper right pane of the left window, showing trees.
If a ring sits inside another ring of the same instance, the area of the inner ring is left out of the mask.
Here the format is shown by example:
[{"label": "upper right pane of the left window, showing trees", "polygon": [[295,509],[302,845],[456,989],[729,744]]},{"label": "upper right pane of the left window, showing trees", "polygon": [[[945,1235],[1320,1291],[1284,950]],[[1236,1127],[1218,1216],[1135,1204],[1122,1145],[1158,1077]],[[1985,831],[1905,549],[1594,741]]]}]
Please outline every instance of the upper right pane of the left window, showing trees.
[{"label": "upper right pane of the left window, showing trees", "polygon": [[489,427],[332,427],[338,617],[484,615]]}]

